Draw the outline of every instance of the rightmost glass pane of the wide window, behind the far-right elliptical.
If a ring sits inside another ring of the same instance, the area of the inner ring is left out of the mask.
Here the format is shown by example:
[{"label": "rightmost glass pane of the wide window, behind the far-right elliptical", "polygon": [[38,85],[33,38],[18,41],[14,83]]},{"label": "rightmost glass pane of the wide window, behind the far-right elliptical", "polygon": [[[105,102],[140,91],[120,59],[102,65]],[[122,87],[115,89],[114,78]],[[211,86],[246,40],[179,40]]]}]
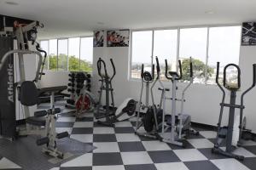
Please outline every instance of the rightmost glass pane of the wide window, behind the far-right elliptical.
[{"label": "rightmost glass pane of the wide window, behind the far-right elliptical", "polygon": [[[223,82],[224,66],[229,63],[238,65],[241,41],[241,26],[225,26],[209,28],[209,51],[207,83],[214,84],[217,62],[220,62],[220,81]],[[227,70],[230,82],[236,82],[237,71],[233,67]],[[233,77],[233,78],[232,78]],[[232,81],[234,79],[234,81]]]}]

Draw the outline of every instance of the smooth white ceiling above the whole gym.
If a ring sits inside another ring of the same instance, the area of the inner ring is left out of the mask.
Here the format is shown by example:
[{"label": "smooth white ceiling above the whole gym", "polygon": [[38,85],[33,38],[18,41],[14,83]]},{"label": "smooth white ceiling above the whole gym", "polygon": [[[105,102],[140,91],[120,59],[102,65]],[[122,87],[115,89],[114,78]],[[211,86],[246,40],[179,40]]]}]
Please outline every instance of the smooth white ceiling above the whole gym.
[{"label": "smooth white ceiling above the whole gym", "polygon": [[76,37],[99,29],[255,21],[256,0],[0,0],[0,14],[43,22],[40,38]]}]

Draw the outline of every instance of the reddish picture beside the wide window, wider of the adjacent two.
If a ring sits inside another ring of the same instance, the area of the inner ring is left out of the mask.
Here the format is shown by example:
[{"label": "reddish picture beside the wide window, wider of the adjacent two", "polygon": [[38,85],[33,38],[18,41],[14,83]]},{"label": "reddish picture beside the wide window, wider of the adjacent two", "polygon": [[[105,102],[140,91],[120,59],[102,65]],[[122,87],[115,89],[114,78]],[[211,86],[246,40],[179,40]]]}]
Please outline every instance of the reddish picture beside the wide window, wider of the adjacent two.
[{"label": "reddish picture beside the wide window, wider of the adjacent two", "polygon": [[129,30],[107,31],[107,47],[128,47]]}]

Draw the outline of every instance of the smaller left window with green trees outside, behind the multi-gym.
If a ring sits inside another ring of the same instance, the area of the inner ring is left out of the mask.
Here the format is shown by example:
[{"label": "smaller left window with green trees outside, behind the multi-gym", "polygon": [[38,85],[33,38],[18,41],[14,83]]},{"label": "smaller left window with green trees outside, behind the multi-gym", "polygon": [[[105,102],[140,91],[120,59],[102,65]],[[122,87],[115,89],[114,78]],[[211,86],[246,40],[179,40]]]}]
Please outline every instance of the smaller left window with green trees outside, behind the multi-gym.
[{"label": "smaller left window with green trees outside, behind the multi-gym", "polygon": [[48,54],[44,69],[52,71],[92,71],[92,37],[73,37],[41,41]]}]

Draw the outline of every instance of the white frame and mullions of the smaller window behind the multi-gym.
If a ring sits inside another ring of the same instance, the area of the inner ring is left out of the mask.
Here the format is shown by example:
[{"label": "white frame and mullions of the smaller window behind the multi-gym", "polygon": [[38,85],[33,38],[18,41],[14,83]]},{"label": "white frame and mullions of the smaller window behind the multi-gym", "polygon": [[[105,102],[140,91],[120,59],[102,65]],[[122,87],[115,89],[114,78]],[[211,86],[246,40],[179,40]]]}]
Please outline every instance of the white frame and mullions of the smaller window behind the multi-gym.
[{"label": "white frame and mullions of the smaller window behind the multi-gym", "polygon": [[[80,63],[81,63],[81,38],[86,38],[86,37],[93,37],[93,36],[83,36],[83,37],[79,37],[79,71],[81,71],[81,67],[80,67]],[[67,71],[69,71],[69,38],[75,38],[75,37],[60,37],[60,38],[49,38],[49,39],[40,39],[39,40],[39,43],[41,42],[44,42],[44,41],[47,41],[48,42],[48,51],[47,51],[47,60],[48,60],[48,65],[47,65],[47,68],[45,68],[45,70],[49,71],[49,57],[48,57],[48,54],[49,54],[49,40],[51,39],[56,39],[57,40],[57,54],[56,54],[56,57],[57,57],[57,63],[56,63],[56,66],[57,68],[55,68],[55,70],[52,70],[52,71],[60,71],[59,68],[58,68],[58,60],[59,60],[59,40],[65,40],[67,39]],[[93,47],[92,47],[93,48]],[[91,64],[93,65],[93,59],[91,60]]]}]

